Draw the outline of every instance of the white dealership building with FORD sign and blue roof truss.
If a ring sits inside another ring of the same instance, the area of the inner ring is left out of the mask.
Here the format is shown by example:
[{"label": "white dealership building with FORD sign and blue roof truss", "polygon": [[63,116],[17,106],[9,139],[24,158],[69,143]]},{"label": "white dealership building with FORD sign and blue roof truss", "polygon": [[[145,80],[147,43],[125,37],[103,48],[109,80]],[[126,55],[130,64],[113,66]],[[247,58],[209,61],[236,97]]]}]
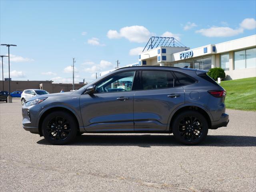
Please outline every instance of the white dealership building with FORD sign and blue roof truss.
[{"label": "white dealership building with FORD sign and blue roof truss", "polygon": [[256,35],[190,49],[171,37],[151,37],[130,66],[221,67],[226,79],[256,76]]}]

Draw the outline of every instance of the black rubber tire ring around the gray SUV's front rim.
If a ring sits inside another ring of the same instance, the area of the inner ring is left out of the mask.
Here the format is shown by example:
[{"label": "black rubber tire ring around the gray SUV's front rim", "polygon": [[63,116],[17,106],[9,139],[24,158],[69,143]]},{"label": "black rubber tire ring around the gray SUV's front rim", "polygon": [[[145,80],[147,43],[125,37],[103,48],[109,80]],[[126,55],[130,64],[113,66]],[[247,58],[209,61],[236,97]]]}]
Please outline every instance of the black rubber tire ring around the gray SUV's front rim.
[{"label": "black rubber tire ring around the gray SUV's front rim", "polygon": [[[51,118],[54,118],[56,116],[61,116],[63,118],[66,118],[69,123],[70,123],[70,134],[68,135],[68,137],[65,140],[53,140],[52,138],[50,138],[50,136],[48,136],[48,134],[46,133],[46,126],[48,121]],[[62,112],[62,111],[55,111],[55,112],[51,112],[50,114],[48,114],[43,122],[42,122],[42,134],[44,136],[44,138],[50,142],[51,144],[54,145],[63,145],[63,144],[67,144],[69,142],[72,142],[74,140],[74,138],[76,137],[76,133],[77,133],[77,123],[76,120],[74,119],[74,117],[66,112]]]}]

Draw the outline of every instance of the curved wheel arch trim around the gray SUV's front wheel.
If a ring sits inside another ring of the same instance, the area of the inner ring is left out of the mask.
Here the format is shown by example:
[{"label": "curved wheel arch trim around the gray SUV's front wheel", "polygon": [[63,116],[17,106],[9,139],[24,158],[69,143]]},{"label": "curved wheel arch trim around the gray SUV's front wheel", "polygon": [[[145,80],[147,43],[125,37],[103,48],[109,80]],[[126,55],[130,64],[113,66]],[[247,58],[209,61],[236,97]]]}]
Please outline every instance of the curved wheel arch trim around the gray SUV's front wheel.
[{"label": "curved wheel arch trim around the gray SUV's front wheel", "polygon": [[79,130],[79,122],[78,122],[78,118],[76,117],[76,115],[74,114],[74,112],[72,112],[71,110],[67,109],[67,108],[64,108],[64,107],[52,107],[46,111],[44,111],[44,113],[40,116],[40,119],[38,121],[38,131],[39,131],[39,134],[40,136],[43,136],[42,134],[42,122],[44,120],[44,118],[50,114],[51,112],[54,112],[54,111],[64,111],[64,112],[67,112],[69,113],[70,115],[72,115],[74,117],[74,119],[76,120],[76,124],[77,124],[77,130]]}]

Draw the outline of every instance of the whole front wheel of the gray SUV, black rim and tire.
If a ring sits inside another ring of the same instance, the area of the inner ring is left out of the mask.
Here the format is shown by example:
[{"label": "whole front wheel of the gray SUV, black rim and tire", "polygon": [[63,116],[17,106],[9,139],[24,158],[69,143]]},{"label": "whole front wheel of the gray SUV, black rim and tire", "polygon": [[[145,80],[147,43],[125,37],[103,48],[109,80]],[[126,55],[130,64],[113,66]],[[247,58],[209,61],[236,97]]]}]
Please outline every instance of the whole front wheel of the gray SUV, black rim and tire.
[{"label": "whole front wheel of the gray SUV, black rim and tire", "polygon": [[49,143],[63,145],[76,138],[77,126],[72,115],[62,111],[54,111],[44,118],[42,134]]}]

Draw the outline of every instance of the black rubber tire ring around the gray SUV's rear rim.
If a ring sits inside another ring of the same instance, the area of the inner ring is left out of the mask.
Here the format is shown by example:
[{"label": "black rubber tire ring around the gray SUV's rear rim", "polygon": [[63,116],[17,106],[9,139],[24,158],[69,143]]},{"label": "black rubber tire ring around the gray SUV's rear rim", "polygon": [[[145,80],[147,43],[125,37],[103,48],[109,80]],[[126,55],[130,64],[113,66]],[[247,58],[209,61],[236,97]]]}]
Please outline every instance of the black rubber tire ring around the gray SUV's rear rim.
[{"label": "black rubber tire ring around the gray SUV's rear rim", "polygon": [[[178,126],[179,126],[180,120],[182,120],[182,118],[185,116],[195,116],[196,118],[198,118],[201,121],[201,123],[203,124],[203,133],[200,136],[200,138],[198,138],[194,141],[188,141],[188,140],[183,139],[180,136],[180,133],[178,131]],[[174,122],[172,123],[172,133],[173,133],[175,139],[178,140],[179,142],[182,142],[183,144],[187,144],[187,145],[195,145],[195,144],[202,142],[206,138],[206,136],[208,134],[208,127],[209,127],[208,122],[207,122],[206,118],[201,113],[199,113],[197,111],[190,110],[190,111],[181,112],[180,114],[178,114],[178,116],[176,116],[176,118],[174,119]]]}]

